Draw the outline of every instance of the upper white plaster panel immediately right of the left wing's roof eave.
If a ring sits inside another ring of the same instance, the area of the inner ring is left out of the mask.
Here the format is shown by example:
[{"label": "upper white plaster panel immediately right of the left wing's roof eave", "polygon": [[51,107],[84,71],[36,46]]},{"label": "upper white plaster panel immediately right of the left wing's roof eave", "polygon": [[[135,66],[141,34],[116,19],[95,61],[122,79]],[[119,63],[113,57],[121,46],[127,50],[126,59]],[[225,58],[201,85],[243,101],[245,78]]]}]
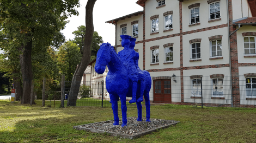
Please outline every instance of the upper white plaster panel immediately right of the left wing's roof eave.
[{"label": "upper white plaster panel immediately right of the left wing's roof eave", "polygon": [[[172,35],[179,33],[180,31],[180,20],[179,20],[179,1],[166,0],[166,6],[156,8],[157,2],[150,0],[145,2],[145,39],[156,38],[166,35]],[[173,30],[163,32],[164,29],[164,17],[163,13],[173,10]],[[150,35],[151,33],[151,19],[153,15],[159,15],[159,34]]]}]

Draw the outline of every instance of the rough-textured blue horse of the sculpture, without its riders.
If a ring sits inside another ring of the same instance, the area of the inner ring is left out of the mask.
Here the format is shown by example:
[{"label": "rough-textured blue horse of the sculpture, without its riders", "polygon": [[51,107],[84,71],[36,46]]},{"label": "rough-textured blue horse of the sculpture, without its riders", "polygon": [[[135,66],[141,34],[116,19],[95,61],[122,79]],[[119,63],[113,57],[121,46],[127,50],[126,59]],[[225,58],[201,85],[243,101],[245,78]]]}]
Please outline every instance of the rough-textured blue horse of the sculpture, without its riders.
[{"label": "rough-textured blue horse of the sculpture, without its riders", "polygon": [[[138,61],[138,55],[135,61]],[[138,66],[138,64],[136,64]],[[105,72],[106,66],[109,69],[106,77],[106,88],[109,93],[109,97],[111,99],[112,110],[114,114],[114,124],[119,125],[118,118],[118,101],[120,98],[121,101],[121,111],[123,124],[122,127],[127,126],[126,119],[126,96],[132,97],[132,92],[129,90],[132,89],[131,80],[129,79],[129,72],[127,72],[127,68],[124,66],[123,62],[119,59],[119,56],[115,52],[114,48],[109,43],[103,43],[100,46],[99,51],[97,51],[97,59],[95,64],[95,71],[98,74],[102,74]],[[136,67],[137,67],[136,66]],[[137,86],[137,94],[136,99],[139,99],[141,96],[141,91],[143,91],[145,106],[146,106],[146,118],[148,122],[150,122],[150,101],[149,101],[149,90],[151,88],[151,77],[150,74],[146,71],[140,71],[139,74],[143,74],[139,78],[139,83],[143,82],[143,84],[138,84]],[[142,121],[142,105],[141,102],[136,101],[137,109],[138,109],[138,118],[137,121]]]}]

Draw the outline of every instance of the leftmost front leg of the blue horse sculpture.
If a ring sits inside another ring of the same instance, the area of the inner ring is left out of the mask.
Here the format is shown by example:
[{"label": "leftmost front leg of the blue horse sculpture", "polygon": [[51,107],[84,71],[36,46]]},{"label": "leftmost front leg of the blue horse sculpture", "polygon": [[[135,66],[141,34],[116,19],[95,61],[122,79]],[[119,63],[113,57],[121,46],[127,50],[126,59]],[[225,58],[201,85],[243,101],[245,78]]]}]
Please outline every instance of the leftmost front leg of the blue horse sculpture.
[{"label": "leftmost front leg of the blue horse sculpture", "polygon": [[118,104],[117,101],[119,100],[118,96],[109,94],[109,98],[111,100],[111,107],[114,114],[114,124],[113,125],[119,125],[119,118],[118,118]]}]

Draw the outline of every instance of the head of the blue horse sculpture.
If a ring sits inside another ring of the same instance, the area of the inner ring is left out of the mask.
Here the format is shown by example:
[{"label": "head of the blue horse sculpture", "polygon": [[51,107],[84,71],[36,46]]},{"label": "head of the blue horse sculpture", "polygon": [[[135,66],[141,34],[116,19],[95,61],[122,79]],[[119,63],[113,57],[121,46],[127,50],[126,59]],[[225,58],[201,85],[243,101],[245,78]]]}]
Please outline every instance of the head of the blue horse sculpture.
[{"label": "head of the blue horse sculpture", "polygon": [[102,43],[100,49],[97,51],[95,72],[97,72],[98,74],[103,74],[105,72],[106,66],[111,60],[111,48],[113,48],[111,44]]}]

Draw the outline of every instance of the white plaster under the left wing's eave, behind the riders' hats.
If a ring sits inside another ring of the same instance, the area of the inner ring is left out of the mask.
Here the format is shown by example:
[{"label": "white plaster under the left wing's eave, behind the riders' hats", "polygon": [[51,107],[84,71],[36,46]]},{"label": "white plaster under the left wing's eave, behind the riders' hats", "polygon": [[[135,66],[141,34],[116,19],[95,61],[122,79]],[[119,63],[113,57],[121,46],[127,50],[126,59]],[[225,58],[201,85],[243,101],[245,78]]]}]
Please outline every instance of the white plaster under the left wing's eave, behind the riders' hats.
[{"label": "white plaster under the left wing's eave, behind the riders' hats", "polygon": [[132,16],[131,18],[125,18],[124,20],[119,20],[117,22],[117,45],[121,44],[121,24],[127,24],[126,26],[126,34],[132,36],[132,25],[131,22],[133,21],[139,21],[139,36],[136,38],[136,41],[142,41],[143,40],[143,15],[138,16]]}]

